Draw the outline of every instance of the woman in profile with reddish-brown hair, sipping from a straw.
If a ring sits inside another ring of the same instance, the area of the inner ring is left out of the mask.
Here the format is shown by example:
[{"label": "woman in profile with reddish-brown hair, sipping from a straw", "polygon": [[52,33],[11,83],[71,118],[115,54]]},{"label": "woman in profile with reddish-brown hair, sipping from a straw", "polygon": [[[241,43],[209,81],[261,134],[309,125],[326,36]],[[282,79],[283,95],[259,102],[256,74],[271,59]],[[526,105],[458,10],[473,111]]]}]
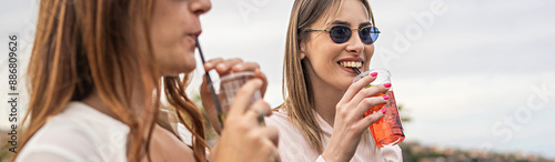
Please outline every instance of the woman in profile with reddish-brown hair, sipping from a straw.
[{"label": "woman in profile with reddish-brown hair, sipping from a straw", "polygon": [[[258,78],[241,88],[206,156],[202,115],[184,90],[195,68],[199,17],[210,8],[209,0],[41,1],[28,125],[16,161],[276,159],[278,132],[258,121],[269,104],[249,105],[265,89],[265,77],[256,63],[239,59],[204,64],[206,71],[254,71]],[[191,145],[158,123],[162,93],[192,133]],[[210,95],[202,100],[212,102]]]}]

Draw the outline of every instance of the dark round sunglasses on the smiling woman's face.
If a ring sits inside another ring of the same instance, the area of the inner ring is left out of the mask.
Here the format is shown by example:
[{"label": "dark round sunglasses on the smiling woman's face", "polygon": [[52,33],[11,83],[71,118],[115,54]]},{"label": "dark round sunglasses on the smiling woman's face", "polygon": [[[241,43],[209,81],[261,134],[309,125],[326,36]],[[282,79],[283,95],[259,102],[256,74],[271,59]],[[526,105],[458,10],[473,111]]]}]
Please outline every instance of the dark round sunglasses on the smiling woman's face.
[{"label": "dark round sunglasses on the smiling woman's face", "polygon": [[372,44],[376,41],[377,36],[380,34],[380,30],[375,27],[364,27],[361,29],[351,29],[346,26],[334,26],[330,28],[330,30],[313,30],[313,29],[306,29],[305,31],[325,31],[330,32],[330,38],[333,40],[335,43],[344,43],[351,39],[351,34],[353,30],[359,31],[359,37],[361,38],[361,41],[365,44]]}]

